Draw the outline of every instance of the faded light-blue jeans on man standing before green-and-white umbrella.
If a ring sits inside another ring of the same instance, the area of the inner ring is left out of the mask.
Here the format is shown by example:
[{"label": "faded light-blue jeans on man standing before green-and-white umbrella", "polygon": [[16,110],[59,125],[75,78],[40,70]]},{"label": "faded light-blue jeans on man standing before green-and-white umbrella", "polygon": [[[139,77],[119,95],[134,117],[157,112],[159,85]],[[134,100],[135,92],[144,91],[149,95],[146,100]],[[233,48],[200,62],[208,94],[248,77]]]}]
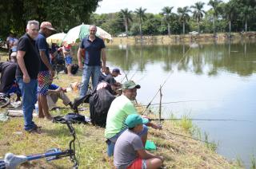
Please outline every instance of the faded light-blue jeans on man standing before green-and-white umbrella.
[{"label": "faded light-blue jeans on man standing before green-and-white umbrella", "polygon": [[93,88],[96,88],[98,85],[99,75],[101,73],[101,67],[84,65],[82,70],[82,83],[80,86],[80,97],[86,96],[90,77],[92,79]]}]

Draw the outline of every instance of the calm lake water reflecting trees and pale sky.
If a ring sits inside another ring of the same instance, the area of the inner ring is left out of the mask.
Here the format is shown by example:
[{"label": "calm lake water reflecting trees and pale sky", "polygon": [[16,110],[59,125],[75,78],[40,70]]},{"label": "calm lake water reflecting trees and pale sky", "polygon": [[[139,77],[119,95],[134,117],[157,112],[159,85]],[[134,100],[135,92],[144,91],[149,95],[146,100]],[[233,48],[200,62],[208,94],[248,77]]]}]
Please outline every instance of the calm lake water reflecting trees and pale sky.
[{"label": "calm lake water reflecting trees and pale sky", "polygon": [[[194,121],[218,143],[219,154],[250,166],[256,155],[256,43],[119,45],[108,46],[106,53],[110,69],[122,69],[118,81],[126,73],[142,86],[137,96],[142,104],[166,81],[162,102],[182,101],[163,104],[166,118],[171,112],[176,117],[253,121]],[[159,96],[152,103],[159,103]]]}]

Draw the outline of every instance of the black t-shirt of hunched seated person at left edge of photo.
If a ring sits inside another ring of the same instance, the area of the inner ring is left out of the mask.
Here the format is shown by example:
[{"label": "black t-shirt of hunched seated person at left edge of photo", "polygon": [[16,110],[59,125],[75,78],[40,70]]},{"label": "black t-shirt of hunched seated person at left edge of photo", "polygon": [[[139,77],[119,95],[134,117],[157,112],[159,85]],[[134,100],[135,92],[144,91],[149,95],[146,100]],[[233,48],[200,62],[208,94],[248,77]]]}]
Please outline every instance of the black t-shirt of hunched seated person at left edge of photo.
[{"label": "black t-shirt of hunched seated person at left edge of photo", "polygon": [[15,72],[17,64],[12,61],[6,61],[0,64],[1,84],[0,92],[7,92],[15,81]]}]

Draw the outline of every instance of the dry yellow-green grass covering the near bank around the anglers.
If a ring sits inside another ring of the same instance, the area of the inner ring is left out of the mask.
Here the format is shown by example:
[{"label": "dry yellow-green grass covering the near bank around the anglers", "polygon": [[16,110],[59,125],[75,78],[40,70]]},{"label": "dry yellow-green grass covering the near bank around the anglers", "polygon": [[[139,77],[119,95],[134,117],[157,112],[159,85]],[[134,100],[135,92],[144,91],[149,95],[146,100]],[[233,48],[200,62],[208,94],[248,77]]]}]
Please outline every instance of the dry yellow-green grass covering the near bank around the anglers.
[{"label": "dry yellow-green grass covering the near bank around the anglers", "polygon": [[[6,53],[0,52],[1,61],[6,61]],[[4,58],[2,58],[5,56]],[[66,78],[66,74],[58,74],[54,84],[67,87],[74,81],[81,81],[81,74]],[[73,100],[78,96],[78,91],[68,92]],[[63,107],[61,100],[58,106]],[[89,106],[80,111],[82,115],[90,116]],[[143,108],[138,108],[142,112]],[[1,109],[0,113],[6,112]],[[62,108],[60,111],[51,111],[53,116],[64,116],[72,112],[69,108]],[[154,114],[150,116],[157,118]],[[171,116],[171,115],[170,115]],[[174,116],[171,116],[174,117]],[[53,124],[48,120],[41,120],[34,117],[36,124],[42,126],[42,134],[28,134],[23,131],[23,118],[10,118],[7,122],[0,122],[0,159],[6,152],[13,152],[17,155],[30,155],[45,152],[52,147],[66,149],[71,139],[68,128],[63,124]],[[242,161],[234,159],[227,160],[216,153],[216,143],[204,143],[189,137],[196,136],[199,140],[208,142],[208,136],[200,132],[188,116],[183,116],[181,121],[166,121],[162,123],[163,130],[156,131],[150,128],[148,140],[154,141],[158,150],[156,153],[165,157],[166,168],[243,168]],[[76,142],[77,156],[80,168],[114,168],[113,158],[106,155],[106,143],[104,139],[104,128],[98,128],[90,124],[74,124],[77,132]],[[177,133],[182,136],[174,135]],[[187,137],[184,137],[187,136]],[[154,152],[155,153],[155,152]],[[70,168],[72,163],[68,158],[58,159],[47,163],[45,159],[22,164],[19,168]]]}]

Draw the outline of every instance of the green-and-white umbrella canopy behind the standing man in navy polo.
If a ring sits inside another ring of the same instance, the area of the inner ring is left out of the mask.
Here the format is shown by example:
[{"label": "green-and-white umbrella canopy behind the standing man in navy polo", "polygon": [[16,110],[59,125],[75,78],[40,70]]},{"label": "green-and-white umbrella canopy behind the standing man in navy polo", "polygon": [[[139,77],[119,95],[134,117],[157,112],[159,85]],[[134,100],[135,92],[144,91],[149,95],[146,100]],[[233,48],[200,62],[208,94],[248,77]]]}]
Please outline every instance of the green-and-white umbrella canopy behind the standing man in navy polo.
[{"label": "green-and-white umbrella canopy behind the standing man in navy polo", "polygon": [[[63,38],[63,41],[67,42],[68,44],[74,44],[82,41],[83,37],[86,37],[89,35],[89,27],[90,25],[82,24],[80,26],[76,26],[70,29],[66,33],[66,37]],[[103,40],[106,39],[106,41],[112,40],[110,33],[107,33],[105,30],[101,29],[98,26],[97,26],[96,36],[101,37]]]}]

